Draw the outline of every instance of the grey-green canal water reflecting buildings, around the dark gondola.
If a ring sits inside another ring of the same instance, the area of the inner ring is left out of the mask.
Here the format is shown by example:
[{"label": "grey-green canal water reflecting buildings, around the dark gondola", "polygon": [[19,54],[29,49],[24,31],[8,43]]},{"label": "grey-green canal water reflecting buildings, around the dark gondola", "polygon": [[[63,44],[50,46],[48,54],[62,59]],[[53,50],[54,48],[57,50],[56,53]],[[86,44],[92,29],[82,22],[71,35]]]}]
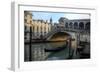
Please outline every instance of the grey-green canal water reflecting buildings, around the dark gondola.
[{"label": "grey-green canal water reflecting buildings, around the dark gondola", "polygon": [[[45,51],[45,49],[55,49],[65,45],[60,51]],[[66,42],[32,43],[24,46],[24,61],[46,61],[46,60],[65,60],[79,58],[76,50],[69,48]]]}]

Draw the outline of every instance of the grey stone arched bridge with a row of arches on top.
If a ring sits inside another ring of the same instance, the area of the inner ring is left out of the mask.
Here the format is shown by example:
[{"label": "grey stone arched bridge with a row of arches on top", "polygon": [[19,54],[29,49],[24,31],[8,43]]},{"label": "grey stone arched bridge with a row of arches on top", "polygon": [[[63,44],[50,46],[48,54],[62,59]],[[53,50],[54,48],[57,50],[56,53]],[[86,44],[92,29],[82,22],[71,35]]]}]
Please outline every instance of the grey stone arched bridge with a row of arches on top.
[{"label": "grey stone arched bridge with a row of arches on top", "polygon": [[[76,45],[80,41],[90,43],[90,19],[63,20],[44,36],[46,40],[57,41],[61,38],[67,40],[70,37],[74,39],[74,42],[77,43]],[[65,34],[65,37],[61,36],[63,34]],[[60,37],[57,37],[57,35]]]}]

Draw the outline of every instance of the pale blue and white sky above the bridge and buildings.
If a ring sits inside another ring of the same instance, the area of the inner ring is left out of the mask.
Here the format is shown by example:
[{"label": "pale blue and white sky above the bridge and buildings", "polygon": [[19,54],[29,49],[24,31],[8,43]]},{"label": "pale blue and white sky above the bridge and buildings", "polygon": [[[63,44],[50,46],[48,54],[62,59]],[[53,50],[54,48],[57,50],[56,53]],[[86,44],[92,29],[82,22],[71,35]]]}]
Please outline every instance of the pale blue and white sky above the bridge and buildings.
[{"label": "pale blue and white sky above the bridge and buildings", "polygon": [[60,17],[65,17],[67,19],[90,19],[89,14],[77,14],[77,13],[61,13],[61,12],[38,12],[38,11],[33,11],[32,12],[33,19],[35,20],[44,20],[48,21],[50,18],[52,18],[53,23],[58,23],[58,20]]}]

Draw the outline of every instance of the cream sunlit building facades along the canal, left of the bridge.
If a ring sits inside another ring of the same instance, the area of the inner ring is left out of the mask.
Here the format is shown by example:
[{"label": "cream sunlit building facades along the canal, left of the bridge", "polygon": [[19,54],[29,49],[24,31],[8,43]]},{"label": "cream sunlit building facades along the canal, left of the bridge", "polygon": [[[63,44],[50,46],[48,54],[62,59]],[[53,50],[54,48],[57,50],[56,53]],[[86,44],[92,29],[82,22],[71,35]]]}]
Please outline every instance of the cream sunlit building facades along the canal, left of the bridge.
[{"label": "cream sunlit building facades along the canal, left of the bridge", "polygon": [[48,32],[51,31],[52,19],[50,21],[36,20],[34,16],[32,18],[31,12],[24,12],[24,24],[25,24],[25,39],[29,40],[30,28],[32,28],[32,39],[43,38]]}]

